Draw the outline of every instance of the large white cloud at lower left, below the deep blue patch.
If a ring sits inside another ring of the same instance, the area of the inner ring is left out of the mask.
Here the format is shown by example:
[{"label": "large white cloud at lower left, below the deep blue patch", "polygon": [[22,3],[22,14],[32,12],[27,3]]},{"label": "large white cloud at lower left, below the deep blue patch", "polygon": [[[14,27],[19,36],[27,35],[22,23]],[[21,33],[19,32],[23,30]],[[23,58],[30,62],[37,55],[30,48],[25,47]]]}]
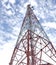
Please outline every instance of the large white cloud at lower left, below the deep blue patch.
[{"label": "large white cloud at lower left, below the deep blue patch", "polygon": [[[16,44],[16,40],[17,40],[17,36],[14,36],[11,33],[6,33],[4,31],[0,31],[1,36],[0,37],[0,65],[9,65],[12,53],[13,53],[13,49],[15,47]],[[16,32],[17,34],[17,32]],[[7,37],[11,37],[11,40],[4,40],[3,35],[7,36]]]}]

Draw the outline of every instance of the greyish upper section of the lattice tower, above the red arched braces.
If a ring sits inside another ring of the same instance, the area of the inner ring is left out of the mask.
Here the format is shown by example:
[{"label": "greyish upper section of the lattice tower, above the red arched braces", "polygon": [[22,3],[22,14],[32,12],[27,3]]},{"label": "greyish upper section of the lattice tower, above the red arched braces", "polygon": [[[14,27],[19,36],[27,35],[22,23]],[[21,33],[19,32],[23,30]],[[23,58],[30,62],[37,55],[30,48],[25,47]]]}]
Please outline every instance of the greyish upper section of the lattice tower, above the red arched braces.
[{"label": "greyish upper section of the lattice tower, above the red arched braces", "polygon": [[37,35],[49,40],[40,22],[38,21],[36,15],[34,14],[33,9],[30,4],[27,5],[27,11],[23,19],[23,23],[22,23],[21,30],[19,33],[19,38],[21,38],[25,34],[25,32],[28,30],[31,30]]}]

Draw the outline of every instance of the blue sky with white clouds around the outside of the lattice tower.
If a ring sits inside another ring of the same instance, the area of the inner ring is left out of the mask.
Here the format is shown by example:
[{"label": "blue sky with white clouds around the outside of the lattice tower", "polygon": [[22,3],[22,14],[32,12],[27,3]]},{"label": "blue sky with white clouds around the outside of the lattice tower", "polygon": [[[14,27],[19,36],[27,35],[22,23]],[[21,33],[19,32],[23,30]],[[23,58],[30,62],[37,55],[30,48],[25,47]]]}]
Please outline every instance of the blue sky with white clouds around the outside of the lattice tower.
[{"label": "blue sky with white clouds around the outside of the lattice tower", "polygon": [[56,47],[56,0],[0,0],[0,65],[10,61],[28,3]]}]

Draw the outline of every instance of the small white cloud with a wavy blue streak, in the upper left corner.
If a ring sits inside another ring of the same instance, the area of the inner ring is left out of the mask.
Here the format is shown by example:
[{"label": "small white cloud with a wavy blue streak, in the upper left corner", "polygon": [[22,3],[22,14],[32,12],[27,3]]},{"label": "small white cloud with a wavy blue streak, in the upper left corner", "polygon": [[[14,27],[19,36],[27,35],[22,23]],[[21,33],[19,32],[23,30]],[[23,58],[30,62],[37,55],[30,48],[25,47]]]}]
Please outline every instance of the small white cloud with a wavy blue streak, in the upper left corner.
[{"label": "small white cloud with a wavy blue streak, in the upper left corner", "polygon": [[14,15],[15,14],[15,11],[14,9],[12,8],[12,6],[10,5],[10,3],[8,2],[8,4],[6,5],[4,2],[2,2],[2,6],[3,6],[3,12],[5,12],[5,14],[7,15]]}]

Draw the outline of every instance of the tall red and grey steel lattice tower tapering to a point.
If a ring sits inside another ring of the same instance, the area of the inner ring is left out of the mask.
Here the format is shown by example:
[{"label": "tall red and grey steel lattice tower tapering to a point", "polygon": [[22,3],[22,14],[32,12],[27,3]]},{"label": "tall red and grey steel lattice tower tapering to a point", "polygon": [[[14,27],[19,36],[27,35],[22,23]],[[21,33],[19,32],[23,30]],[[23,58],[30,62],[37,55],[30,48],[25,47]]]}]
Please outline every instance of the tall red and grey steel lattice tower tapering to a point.
[{"label": "tall red and grey steel lattice tower tapering to a point", "polygon": [[9,65],[56,65],[56,51],[41,24],[27,6]]}]

